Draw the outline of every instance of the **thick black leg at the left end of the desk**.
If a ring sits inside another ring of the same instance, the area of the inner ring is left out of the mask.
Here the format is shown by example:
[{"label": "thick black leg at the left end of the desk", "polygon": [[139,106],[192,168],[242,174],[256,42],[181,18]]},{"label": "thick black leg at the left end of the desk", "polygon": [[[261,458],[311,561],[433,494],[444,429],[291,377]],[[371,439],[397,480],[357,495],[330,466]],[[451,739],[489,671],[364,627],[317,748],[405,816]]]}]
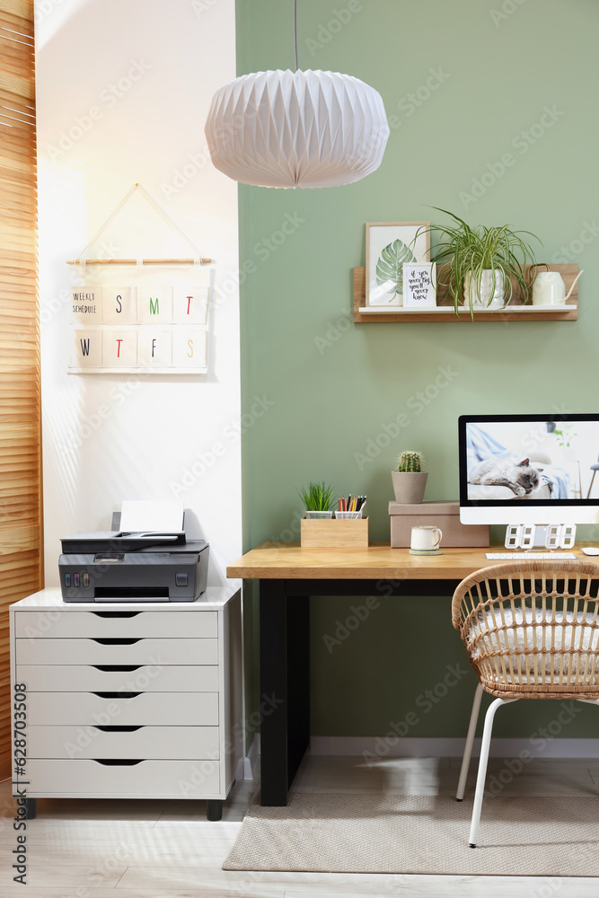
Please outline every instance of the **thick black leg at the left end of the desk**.
[{"label": "thick black leg at the left end of the desk", "polygon": [[[261,802],[285,806],[310,740],[309,599],[260,580]],[[273,707],[274,706],[274,707]]]}]

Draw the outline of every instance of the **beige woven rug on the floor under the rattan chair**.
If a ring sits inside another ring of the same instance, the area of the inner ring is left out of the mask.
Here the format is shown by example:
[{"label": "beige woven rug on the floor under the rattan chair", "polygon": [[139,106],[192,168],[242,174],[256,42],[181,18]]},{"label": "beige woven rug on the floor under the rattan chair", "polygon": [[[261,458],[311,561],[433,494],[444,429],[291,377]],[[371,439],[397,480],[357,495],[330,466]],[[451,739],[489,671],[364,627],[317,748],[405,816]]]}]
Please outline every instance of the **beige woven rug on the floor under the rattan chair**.
[{"label": "beige woven rug on the floor under the rattan chair", "polygon": [[225,870],[599,876],[599,798],[485,797],[479,847],[472,799],[294,793],[254,797]]}]

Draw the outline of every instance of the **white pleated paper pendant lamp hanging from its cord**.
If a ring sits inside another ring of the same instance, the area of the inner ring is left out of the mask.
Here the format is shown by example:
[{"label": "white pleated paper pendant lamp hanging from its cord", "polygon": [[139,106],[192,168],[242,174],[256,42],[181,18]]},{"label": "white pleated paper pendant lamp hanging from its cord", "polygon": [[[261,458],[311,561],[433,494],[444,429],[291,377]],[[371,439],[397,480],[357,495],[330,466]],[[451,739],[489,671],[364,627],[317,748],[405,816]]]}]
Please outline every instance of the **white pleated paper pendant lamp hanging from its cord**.
[{"label": "white pleated paper pendant lamp hanging from its cord", "polygon": [[205,133],[215,167],[242,184],[337,187],[379,167],[389,126],[380,94],[363,81],[287,69],[225,84]]}]

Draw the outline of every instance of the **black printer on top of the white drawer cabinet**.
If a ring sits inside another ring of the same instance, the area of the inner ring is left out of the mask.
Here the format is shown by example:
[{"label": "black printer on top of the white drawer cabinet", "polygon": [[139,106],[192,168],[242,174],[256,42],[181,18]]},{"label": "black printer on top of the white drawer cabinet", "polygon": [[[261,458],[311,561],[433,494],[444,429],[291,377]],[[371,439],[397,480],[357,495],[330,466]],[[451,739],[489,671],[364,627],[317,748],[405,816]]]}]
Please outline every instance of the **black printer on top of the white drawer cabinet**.
[{"label": "black printer on top of the white drawer cabinet", "polygon": [[209,546],[185,533],[74,533],[58,559],[64,602],[194,602],[206,589]]}]

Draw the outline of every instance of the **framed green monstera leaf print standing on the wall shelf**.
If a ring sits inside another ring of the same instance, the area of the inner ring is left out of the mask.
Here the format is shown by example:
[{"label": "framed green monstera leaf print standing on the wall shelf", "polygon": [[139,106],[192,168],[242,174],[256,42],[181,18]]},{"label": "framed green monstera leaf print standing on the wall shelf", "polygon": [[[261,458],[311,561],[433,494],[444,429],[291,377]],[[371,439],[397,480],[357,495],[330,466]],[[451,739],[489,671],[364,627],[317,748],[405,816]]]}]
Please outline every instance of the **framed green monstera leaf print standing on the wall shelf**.
[{"label": "framed green monstera leaf print standing on the wall shelf", "polygon": [[403,305],[403,264],[430,261],[429,225],[366,223],[366,305]]}]

